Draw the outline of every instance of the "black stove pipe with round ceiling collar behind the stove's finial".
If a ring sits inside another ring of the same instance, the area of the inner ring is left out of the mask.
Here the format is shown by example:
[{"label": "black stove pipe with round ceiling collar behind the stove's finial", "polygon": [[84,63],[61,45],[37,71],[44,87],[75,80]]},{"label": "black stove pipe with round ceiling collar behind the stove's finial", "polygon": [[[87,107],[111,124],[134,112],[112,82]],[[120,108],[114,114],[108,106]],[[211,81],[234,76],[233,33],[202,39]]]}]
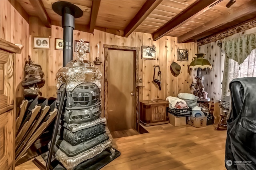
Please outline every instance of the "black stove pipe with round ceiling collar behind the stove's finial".
[{"label": "black stove pipe with round ceiling collar behind the stove's finial", "polygon": [[75,29],[75,18],[83,15],[80,8],[70,2],[55,2],[52,4],[54,12],[62,16],[63,28],[63,67],[73,59],[73,30]]}]

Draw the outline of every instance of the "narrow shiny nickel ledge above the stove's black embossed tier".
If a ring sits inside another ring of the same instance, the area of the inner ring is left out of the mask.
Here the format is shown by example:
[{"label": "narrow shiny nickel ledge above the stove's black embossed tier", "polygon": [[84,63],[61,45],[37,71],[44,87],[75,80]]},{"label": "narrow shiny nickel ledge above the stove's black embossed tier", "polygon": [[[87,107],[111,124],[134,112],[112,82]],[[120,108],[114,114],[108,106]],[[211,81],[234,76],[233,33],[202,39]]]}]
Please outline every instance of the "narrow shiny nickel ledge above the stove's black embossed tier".
[{"label": "narrow shiny nickel ledge above the stove's black embossed tier", "polygon": [[64,123],[63,127],[67,128],[71,132],[77,132],[79,130],[82,130],[82,129],[85,129],[85,128],[90,128],[90,127],[93,127],[95,125],[99,125],[100,123],[105,123],[105,122],[106,122],[106,118],[100,117],[100,118],[96,119],[95,121],[86,122],[86,123],[79,123],[79,124],[76,124],[76,123],[72,123],[72,124]]}]

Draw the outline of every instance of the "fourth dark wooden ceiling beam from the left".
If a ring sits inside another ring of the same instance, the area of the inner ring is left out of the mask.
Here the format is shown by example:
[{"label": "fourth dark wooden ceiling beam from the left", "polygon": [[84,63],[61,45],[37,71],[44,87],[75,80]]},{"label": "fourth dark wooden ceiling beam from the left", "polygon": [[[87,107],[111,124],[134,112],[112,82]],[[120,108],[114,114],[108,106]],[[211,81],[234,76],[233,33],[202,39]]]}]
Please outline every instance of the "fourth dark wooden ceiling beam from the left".
[{"label": "fourth dark wooden ceiling beam from the left", "polygon": [[152,34],[153,40],[160,39],[161,37],[188,22],[191,18],[202,14],[205,10],[207,10],[208,6],[215,1],[216,0],[197,0],[180,14],[172,18],[172,20],[164,24],[164,26],[156,30],[156,32]]}]

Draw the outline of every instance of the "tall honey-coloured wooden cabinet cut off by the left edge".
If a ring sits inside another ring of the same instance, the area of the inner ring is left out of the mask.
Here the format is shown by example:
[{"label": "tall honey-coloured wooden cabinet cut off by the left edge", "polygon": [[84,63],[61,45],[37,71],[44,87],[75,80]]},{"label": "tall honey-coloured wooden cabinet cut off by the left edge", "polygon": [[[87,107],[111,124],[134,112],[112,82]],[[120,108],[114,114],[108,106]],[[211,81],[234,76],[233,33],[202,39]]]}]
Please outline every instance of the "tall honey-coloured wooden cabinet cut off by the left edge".
[{"label": "tall honey-coloured wooden cabinet cut off by the left edge", "polygon": [[0,167],[14,170],[15,160],[15,72],[16,53],[22,48],[0,38]]}]

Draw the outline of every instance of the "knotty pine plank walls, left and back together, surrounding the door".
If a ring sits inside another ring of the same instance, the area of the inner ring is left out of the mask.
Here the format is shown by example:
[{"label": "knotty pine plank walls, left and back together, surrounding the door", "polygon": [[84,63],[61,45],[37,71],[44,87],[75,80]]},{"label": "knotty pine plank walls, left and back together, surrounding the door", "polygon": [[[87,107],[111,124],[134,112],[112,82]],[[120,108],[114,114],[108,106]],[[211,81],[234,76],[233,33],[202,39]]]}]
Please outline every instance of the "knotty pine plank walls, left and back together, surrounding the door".
[{"label": "knotty pine plank walls, left and back together, surrounding the door", "polygon": [[[56,77],[55,74],[62,67],[62,51],[54,49],[55,38],[63,38],[63,29],[58,26],[45,28],[36,17],[30,17],[28,24],[22,16],[11,6],[7,0],[3,0],[1,5],[1,38],[13,43],[24,45],[22,54],[17,57],[16,82],[18,85],[24,79],[24,63],[30,55],[35,64],[40,64],[44,71],[46,84],[40,89],[44,97],[56,97]],[[2,10],[4,9],[4,10]],[[3,31],[4,30],[4,31]],[[50,37],[50,49],[34,49],[34,36]],[[97,43],[100,43],[100,60],[104,63],[104,44],[124,45],[140,47],[142,45],[156,46],[156,60],[142,60],[141,53],[139,60],[139,78],[142,79],[140,86],[145,86],[140,90],[140,100],[165,99],[167,96],[177,96],[181,92],[192,92],[189,85],[193,81],[193,75],[188,72],[188,65],[197,51],[196,43],[177,43],[177,38],[165,36],[158,41],[153,41],[151,34],[134,32],[128,38],[116,36],[99,30],[94,34],[74,30],[74,40],[83,39],[90,42],[90,53],[88,59],[93,61],[97,54]],[[177,49],[189,49],[189,61],[177,61]],[[181,73],[174,77],[170,72],[170,64],[177,62],[181,65]],[[152,83],[154,66],[160,65],[162,72],[162,91]],[[102,89],[104,88],[104,64],[96,66],[103,74]],[[114,68],[113,68],[114,69]],[[16,88],[16,92],[21,93],[21,86]],[[21,94],[20,94],[21,96]],[[104,95],[102,90],[102,103]],[[102,105],[103,106],[103,105]],[[104,109],[104,108],[102,108]]]}]

